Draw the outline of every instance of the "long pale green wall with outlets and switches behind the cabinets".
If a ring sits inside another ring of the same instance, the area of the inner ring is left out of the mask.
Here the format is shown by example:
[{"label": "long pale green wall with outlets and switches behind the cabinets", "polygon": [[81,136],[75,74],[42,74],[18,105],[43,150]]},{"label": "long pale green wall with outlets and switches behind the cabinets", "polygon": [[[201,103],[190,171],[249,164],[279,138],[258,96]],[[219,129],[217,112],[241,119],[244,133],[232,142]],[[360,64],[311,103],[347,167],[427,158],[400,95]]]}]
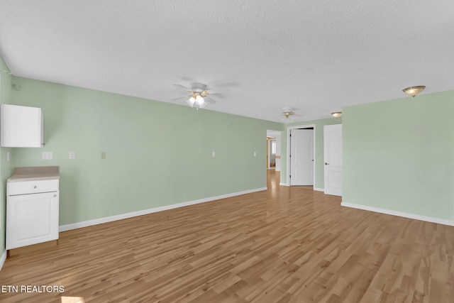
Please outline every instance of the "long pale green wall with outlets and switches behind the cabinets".
[{"label": "long pale green wall with outlets and switches behind the cabinets", "polygon": [[[40,107],[45,117],[45,147],[12,148],[13,166],[60,166],[60,225],[266,187],[266,130],[283,128],[33,79],[13,83],[21,89],[11,103]],[[53,160],[41,160],[43,151]]]}]

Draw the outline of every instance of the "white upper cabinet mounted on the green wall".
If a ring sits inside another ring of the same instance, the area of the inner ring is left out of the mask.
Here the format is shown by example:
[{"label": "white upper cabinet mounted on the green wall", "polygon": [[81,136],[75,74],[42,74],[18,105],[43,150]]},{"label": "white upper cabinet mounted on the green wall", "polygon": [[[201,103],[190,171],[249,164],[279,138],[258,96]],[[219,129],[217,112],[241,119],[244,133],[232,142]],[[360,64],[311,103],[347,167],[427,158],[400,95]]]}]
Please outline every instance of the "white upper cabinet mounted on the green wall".
[{"label": "white upper cabinet mounted on the green wall", "polygon": [[44,146],[43,111],[38,107],[1,104],[0,141],[4,148]]}]

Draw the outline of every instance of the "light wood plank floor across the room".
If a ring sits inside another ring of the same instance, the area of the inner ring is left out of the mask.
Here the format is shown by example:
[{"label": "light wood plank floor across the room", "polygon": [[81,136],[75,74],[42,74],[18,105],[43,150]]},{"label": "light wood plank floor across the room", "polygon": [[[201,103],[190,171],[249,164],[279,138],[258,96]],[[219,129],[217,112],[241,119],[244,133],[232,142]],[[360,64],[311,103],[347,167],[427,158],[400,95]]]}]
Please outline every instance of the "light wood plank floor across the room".
[{"label": "light wood plank floor across the room", "polygon": [[454,227],[340,206],[304,187],[60,233],[6,260],[0,302],[454,302]]}]

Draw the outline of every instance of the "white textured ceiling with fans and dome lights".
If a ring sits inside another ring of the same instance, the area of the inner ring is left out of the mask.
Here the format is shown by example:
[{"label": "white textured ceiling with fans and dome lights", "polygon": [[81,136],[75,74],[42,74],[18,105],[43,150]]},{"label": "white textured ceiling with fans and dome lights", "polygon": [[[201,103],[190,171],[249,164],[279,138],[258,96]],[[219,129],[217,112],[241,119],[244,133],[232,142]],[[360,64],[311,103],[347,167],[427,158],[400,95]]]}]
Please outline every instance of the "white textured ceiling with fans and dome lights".
[{"label": "white textured ceiling with fans and dome lights", "polygon": [[0,0],[13,75],[270,121],[454,89],[453,54],[453,0]]}]

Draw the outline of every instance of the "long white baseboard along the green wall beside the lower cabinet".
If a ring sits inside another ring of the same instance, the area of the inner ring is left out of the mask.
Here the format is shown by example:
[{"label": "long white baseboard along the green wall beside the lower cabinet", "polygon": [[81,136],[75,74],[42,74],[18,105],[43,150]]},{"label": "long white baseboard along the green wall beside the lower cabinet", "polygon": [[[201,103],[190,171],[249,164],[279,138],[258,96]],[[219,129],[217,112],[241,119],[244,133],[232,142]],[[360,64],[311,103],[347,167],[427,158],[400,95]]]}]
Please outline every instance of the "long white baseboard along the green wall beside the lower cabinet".
[{"label": "long white baseboard along the green wall beside the lower cabinet", "polygon": [[118,214],[116,216],[106,216],[104,218],[99,218],[99,219],[94,219],[94,220],[89,220],[89,221],[82,221],[82,222],[77,222],[77,223],[73,223],[73,224],[60,225],[59,231],[70,231],[71,229],[82,228],[82,227],[87,227],[87,226],[92,226],[92,225],[97,225],[97,224],[103,224],[103,223],[107,223],[107,222],[111,222],[111,221],[128,219],[128,218],[132,218],[134,216],[143,216],[144,214],[153,214],[158,211],[176,209],[178,207],[189,206],[189,205],[194,205],[194,204],[199,204],[199,203],[204,203],[204,202],[210,202],[210,201],[214,201],[214,200],[218,200],[218,199],[240,196],[241,194],[250,194],[251,192],[260,192],[262,190],[267,190],[267,187],[249,189],[249,190],[245,190],[243,192],[234,192],[232,194],[221,194],[221,196],[216,196],[216,197],[210,197],[210,198],[193,200],[193,201],[189,201],[189,202],[165,205],[165,206],[155,207],[153,209],[144,209],[141,211],[133,211],[133,212],[126,213],[126,214]]}]

